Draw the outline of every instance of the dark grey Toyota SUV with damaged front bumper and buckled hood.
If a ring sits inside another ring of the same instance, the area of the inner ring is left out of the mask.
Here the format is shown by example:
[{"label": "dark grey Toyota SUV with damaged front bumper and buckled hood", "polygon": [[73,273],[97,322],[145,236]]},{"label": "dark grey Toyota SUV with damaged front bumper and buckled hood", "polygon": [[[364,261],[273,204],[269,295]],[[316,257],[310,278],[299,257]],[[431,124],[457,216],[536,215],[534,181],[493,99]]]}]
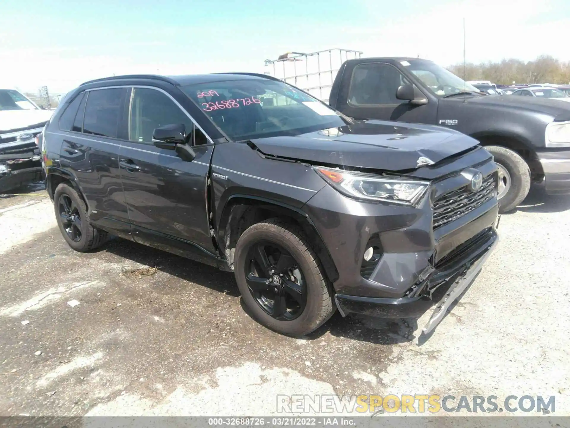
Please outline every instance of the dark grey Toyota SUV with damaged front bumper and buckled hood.
[{"label": "dark grey Toyota SUV with damaged front bumper and buckled hood", "polygon": [[257,74],[132,75],[70,92],[44,129],[67,243],[107,233],[235,273],[259,322],[338,308],[429,332],[498,237],[497,171],[453,130],[355,121]]}]

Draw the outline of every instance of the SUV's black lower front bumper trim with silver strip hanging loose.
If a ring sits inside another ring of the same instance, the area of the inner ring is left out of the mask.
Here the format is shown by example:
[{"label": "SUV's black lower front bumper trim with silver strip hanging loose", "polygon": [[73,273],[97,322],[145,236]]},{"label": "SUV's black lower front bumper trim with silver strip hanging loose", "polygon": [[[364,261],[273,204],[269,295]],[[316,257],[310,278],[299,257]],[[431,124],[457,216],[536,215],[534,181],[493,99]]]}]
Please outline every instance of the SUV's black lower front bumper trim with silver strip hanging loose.
[{"label": "SUV's black lower front bumper trim with silver strip hanging loose", "polygon": [[[343,316],[360,313],[380,318],[419,318],[434,304],[447,303],[449,306],[471,284],[498,240],[495,228],[484,231],[467,255],[462,255],[461,261],[450,260],[435,269],[413,297],[374,298],[336,294],[336,306]],[[455,298],[448,301],[452,293]]]}]

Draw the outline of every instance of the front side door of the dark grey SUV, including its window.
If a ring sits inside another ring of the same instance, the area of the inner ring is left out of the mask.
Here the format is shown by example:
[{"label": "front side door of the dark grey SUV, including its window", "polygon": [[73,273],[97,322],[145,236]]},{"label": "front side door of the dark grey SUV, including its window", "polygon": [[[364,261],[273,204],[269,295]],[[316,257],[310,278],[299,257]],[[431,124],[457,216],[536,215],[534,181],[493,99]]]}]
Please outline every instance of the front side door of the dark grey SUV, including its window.
[{"label": "front side door of the dark grey SUV, including its window", "polygon": [[[155,128],[180,123],[187,134],[193,133],[193,161],[152,143]],[[157,88],[133,88],[128,128],[119,165],[135,241],[186,256],[214,253],[206,185],[213,144],[182,107]]]}]

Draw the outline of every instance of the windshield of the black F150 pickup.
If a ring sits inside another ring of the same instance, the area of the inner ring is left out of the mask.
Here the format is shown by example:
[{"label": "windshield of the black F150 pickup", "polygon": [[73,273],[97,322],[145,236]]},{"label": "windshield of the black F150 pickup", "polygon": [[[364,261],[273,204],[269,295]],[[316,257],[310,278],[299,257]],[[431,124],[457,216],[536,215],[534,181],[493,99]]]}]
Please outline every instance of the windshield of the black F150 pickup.
[{"label": "windshield of the black F150 pickup", "polygon": [[434,62],[425,59],[410,59],[402,61],[401,64],[424,82],[435,95],[446,96],[465,91],[479,92],[475,86],[466,83],[462,78]]}]

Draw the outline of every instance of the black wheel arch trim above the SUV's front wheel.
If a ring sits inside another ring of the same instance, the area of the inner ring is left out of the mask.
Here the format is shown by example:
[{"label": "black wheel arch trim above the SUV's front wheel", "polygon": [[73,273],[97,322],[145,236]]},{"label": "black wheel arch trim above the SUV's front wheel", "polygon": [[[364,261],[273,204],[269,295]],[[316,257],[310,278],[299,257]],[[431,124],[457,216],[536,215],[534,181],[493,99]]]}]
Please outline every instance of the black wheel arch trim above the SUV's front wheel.
[{"label": "black wheel arch trim above the SUV's front wheel", "polygon": [[302,226],[303,231],[307,233],[311,243],[316,244],[316,248],[313,249],[317,253],[317,256],[319,256],[321,264],[323,264],[331,284],[339,278],[339,272],[332,260],[331,254],[329,253],[327,246],[324,244],[323,237],[320,235],[315,224],[311,220],[311,217],[298,207],[294,207],[293,205],[268,197],[248,195],[247,193],[234,193],[227,198],[217,224],[217,241],[222,253],[225,253],[226,251],[226,227],[230,223],[232,208],[239,204],[233,204],[233,201],[236,199],[242,199],[249,205],[257,205],[260,208],[274,211],[276,215],[286,215],[296,220]]}]

